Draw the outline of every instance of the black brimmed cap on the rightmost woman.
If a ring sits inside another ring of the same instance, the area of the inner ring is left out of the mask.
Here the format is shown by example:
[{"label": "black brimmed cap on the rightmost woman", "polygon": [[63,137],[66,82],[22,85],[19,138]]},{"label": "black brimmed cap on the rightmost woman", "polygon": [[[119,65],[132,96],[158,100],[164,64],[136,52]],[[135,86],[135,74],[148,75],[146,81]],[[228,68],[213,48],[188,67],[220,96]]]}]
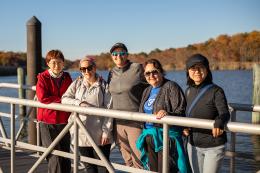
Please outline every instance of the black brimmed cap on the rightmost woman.
[{"label": "black brimmed cap on the rightmost woman", "polygon": [[201,54],[194,54],[192,55],[187,61],[186,61],[186,69],[188,70],[192,66],[196,64],[202,64],[204,65],[207,69],[209,69],[209,61],[208,59],[201,55]]}]

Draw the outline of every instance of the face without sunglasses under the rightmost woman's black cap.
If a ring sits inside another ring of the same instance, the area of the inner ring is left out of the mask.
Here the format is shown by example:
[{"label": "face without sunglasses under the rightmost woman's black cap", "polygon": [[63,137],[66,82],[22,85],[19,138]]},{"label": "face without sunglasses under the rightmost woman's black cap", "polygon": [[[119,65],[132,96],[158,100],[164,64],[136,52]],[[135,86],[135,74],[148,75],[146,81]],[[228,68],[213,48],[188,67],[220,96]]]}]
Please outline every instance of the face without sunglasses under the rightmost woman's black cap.
[{"label": "face without sunglasses under the rightmost woman's black cap", "polygon": [[192,66],[189,68],[188,73],[195,85],[200,85],[208,75],[207,68],[203,64],[196,64]]}]

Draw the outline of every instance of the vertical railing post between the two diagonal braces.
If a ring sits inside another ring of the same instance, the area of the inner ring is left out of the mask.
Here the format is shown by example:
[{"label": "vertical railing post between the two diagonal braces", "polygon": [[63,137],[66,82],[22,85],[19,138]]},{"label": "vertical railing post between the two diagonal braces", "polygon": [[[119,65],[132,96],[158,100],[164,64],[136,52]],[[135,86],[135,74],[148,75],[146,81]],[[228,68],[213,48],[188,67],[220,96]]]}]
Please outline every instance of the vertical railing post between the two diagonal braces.
[{"label": "vertical railing post between the two diagonal braces", "polygon": [[[75,115],[78,117],[78,113]],[[77,173],[78,172],[78,161],[79,161],[79,153],[78,153],[78,138],[79,138],[79,133],[78,133],[78,124],[76,121],[76,118],[74,119],[74,167],[73,167],[73,172]]]}]

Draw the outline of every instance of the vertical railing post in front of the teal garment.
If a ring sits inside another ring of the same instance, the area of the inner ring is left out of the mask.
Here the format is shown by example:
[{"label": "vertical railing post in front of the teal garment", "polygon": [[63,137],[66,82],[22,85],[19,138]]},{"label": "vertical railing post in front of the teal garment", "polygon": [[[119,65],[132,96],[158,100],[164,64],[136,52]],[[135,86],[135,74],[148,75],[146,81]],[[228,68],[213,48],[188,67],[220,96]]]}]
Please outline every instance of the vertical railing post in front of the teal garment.
[{"label": "vertical railing post in front of the teal garment", "polygon": [[168,173],[169,169],[169,125],[163,124],[163,173]]}]

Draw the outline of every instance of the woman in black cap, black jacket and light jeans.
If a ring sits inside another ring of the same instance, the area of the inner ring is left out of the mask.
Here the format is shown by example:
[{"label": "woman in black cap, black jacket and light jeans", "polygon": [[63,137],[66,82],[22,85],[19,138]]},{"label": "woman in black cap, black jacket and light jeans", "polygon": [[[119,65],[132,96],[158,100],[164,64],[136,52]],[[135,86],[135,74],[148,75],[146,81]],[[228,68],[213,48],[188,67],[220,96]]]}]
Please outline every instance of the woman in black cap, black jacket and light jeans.
[{"label": "woman in black cap, black jacket and light jeans", "polygon": [[186,116],[215,120],[211,130],[190,128],[187,150],[194,173],[218,172],[225,154],[227,142],[224,125],[230,114],[223,89],[212,82],[208,59],[195,54],[186,62],[187,85],[185,92]]}]

